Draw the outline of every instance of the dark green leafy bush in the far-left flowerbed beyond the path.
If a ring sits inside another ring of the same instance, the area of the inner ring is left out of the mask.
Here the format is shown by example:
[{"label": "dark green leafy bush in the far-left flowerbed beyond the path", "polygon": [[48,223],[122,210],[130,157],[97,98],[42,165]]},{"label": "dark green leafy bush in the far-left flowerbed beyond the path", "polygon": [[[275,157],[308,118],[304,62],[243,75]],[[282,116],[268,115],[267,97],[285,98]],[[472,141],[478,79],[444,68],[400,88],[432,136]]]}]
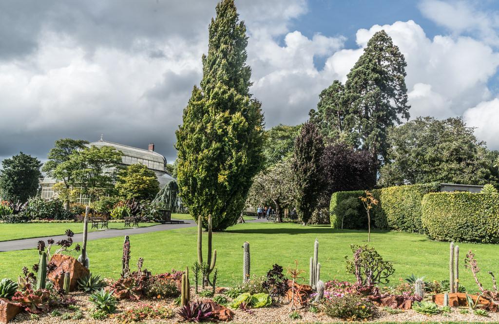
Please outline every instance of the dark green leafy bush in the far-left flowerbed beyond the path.
[{"label": "dark green leafy bush in the far-left flowerbed beyond the path", "polygon": [[28,219],[55,219],[70,220],[73,215],[64,209],[62,201],[59,199],[43,199],[41,197],[30,198],[26,208],[22,211]]}]

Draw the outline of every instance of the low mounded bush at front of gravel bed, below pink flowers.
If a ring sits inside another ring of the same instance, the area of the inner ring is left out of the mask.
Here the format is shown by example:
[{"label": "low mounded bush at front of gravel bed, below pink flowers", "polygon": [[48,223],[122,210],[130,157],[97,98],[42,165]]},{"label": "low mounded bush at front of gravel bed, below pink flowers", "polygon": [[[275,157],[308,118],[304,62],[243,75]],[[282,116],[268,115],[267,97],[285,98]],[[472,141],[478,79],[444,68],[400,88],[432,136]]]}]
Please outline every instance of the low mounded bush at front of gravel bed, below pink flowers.
[{"label": "low mounded bush at front of gravel bed, below pink flowers", "polygon": [[332,296],[322,304],[324,314],[347,321],[367,321],[376,314],[376,307],[355,294]]}]

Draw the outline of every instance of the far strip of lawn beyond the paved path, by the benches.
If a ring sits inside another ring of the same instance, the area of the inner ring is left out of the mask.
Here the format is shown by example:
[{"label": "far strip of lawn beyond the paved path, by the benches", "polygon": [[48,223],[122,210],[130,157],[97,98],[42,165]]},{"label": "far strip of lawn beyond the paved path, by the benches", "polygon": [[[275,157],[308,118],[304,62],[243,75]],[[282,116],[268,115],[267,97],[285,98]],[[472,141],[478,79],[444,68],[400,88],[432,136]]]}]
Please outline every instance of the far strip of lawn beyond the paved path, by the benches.
[{"label": "far strip of lawn beyond the paved path, by the benches", "polygon": [[[153,226],[158,223],[139,223],[140,227]],[[125,223],[109,223],[109,229],[124,229]],[[127,227],[128,228],[128,227]],[[74,233],[83,233],[83,223],[27,223],[27,224],[0,224],[0,241],[29,239],[51,235],[64,235],[70,229]],[[100,231],[90,229],[89,231]]]}]

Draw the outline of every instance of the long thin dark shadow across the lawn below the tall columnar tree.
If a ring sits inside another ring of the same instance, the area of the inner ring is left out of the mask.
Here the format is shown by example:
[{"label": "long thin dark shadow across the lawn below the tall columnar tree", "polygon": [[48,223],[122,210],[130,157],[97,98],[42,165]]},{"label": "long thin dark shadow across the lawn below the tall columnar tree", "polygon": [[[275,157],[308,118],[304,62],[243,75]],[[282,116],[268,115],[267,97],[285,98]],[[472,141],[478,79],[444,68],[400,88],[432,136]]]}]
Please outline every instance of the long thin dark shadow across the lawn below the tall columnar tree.
[{"label": "long thin dark shadow across the lawn below the tall columnar tree", "polygon": [[[238,229],[238,230],[228,230],[225,233],[239,233],[239,234],[367,234],[367,230],[337,230],[332,229],[328,225],[308,225],[293,228],[283,228],[278,227],[279,224],[275,223],[275,228],[251,228],[251,229]],[[385,230],[371,230],[371,234],[386,234],[390,231]]]}]

